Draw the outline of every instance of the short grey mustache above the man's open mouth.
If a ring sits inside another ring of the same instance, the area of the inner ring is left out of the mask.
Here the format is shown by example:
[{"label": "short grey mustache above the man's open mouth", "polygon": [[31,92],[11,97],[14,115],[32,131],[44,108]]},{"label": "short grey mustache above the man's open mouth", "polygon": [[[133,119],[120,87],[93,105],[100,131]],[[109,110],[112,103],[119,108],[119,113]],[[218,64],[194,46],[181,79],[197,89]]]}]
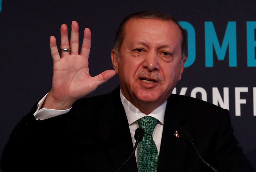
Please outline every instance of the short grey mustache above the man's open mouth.
[{"label": "short grey mustache above the man's open mouth", "polygon": [[136,75],[136,78],[140,79],[143,77],[148,77],[150,79],[153,79],[159,83],[164,83],[164,77],[156,70],[148,71],[147,69],[140,70]]}]

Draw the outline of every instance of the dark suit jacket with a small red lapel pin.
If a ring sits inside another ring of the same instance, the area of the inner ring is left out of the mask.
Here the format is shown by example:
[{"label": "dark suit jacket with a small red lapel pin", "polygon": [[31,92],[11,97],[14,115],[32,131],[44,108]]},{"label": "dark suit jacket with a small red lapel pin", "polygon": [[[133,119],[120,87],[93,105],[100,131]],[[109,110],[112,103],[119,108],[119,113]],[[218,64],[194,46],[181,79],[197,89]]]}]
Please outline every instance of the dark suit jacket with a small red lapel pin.
[{"label": "dark suit jacket with a small red lapel pin", "polygon": [[[76,101],[63,115],[36,121],[35,107],[13,130],[1,159],[3,171],[116,171],[133,145],[119,88]],[[218,171],[253,171],[233,135],[228,110],[172,94],[167,100],[158,171],[212,171],[186,139],[189,131],[199,154]],[[138,171],[133,155],[120,171]]]}]

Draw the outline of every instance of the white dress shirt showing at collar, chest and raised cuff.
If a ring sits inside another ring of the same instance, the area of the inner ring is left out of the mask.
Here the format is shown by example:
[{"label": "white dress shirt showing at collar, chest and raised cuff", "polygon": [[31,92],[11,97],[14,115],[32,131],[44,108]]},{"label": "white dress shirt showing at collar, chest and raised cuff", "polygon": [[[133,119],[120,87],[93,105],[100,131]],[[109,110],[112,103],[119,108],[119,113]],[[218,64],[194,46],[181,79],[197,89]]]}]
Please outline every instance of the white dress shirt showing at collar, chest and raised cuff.
[{"label": "white dress shirt showing at collar, chest and raised cuff", "polygon": [[[37,109],[36,109],[36,112],[34,113],[34,116],[35,116],[36,120],[44,120],[44,119],[47,119],[47,118],[52,118],[52,117],[55,117],[55,116],[58,116],[58,115],[62,115],[64,113],[69,112],[70,109],[72,108],[71,107],[67,110],[56,110],[56,109],[46,109],[46,108],[40,109],[42,104],[44,103],[44,99],[47,96],[47,94],[37,104]],[[139,127],[139,124],[138,124],[137,120],[144,117],[144,116],[147,116],[147,115],[145,113],[141,112],[138,108],[136,108],[131,102],[129,102],[124,97],[121,90],[120,90],[120,97],[121,97],[121,102],[124,106],[124,111],[126,113],[126,117],[128,119],[129,128],[130,128],[130,132],[131,132],[131,136],[132,136],[132,143],[133,143],[133,146],[134,146],[135,141],[136,141],[134,139],[134,133],[135,133],[135,130]],[[164,128],[164,112],[165,112],[165,108],[166,108],[166,103],[167,103],[167,101],[165,101],[162,105],[160,105],[158,108],[156,108],[150,114],[148,114],[148,116],[154,117],[154,118],[158,119],[158,121],[159,121],[156,124],[156,127],[155,127],[154,132],[153,132],[153,140],[156,143],[156,148],[157,148],[158,155],[159,155],[159,152],[160,152],[162,133],[163,133],[163,128]],[[138,158],[139,158],[138,157],[138,147],[135,151],[137,166],[138,166]]]}]

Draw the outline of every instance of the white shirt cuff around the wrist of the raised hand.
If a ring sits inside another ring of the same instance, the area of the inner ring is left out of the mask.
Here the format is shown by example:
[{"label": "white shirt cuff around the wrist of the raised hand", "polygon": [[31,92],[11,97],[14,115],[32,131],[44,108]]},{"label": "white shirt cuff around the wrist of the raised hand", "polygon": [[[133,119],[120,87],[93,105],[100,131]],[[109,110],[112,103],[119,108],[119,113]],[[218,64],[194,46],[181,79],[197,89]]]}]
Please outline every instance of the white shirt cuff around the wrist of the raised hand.
[{"label": "white shirt cuff around the wrist of the raised hand", "polygon": [[40,109],[42,104],[44,103],[44,99],[47,96],[47,94],[37,104],[37,109],[36,109],[36,112],[34,113],[34,117],[36,118],[36,120],[44,120],[47,118],[59,116],[64,113],[68,113],[70,111],[70,109],[72,108],[72,106],[71,106],[71,108],[66,109],[66,110],[46,109],[46,108]]}]

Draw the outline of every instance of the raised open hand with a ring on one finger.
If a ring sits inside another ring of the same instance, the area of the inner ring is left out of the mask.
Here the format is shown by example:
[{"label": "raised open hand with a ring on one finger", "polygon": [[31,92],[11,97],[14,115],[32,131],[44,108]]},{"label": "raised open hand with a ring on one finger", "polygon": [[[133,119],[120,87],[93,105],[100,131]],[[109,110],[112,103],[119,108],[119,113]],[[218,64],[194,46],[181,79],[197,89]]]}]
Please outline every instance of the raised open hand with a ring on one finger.
[{"label": "raised open hand with a ring on one finger", "polygon": [[91,31],[89,28],[84,29],[84,40],[79,55],[78,24],[76,21],[72,22],[71,28],[69,47],[68,27],[65,24],[60,27],[60,48],[70,49],[70,52],[62,52],[61,57],[55,37],[51,36],[50,38],[53,59],[52,89],[44,101],[43,108],[68,109],[77,99],[91,93],[100,84],[108,81],[116,74],[114,70],[106,70],[94,77],[89,74],[88,58],[91,48]]}]

